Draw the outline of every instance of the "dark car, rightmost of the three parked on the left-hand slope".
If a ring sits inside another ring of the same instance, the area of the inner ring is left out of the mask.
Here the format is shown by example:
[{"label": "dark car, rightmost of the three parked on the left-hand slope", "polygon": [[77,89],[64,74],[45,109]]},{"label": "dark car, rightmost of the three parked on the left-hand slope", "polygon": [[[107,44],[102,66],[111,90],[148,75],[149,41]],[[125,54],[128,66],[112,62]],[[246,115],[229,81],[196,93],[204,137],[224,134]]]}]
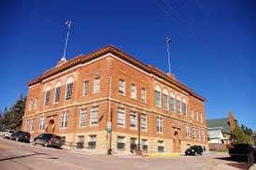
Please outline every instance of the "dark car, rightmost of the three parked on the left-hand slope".
[{"label": "dark car, rightmost of the three parked on the left-hand slope", "polygon": [[33,144],[40,144],[45,147],[56,147],[60,149],[63,146],[63,141],[60,135],[41,134],[35,137]]}]

